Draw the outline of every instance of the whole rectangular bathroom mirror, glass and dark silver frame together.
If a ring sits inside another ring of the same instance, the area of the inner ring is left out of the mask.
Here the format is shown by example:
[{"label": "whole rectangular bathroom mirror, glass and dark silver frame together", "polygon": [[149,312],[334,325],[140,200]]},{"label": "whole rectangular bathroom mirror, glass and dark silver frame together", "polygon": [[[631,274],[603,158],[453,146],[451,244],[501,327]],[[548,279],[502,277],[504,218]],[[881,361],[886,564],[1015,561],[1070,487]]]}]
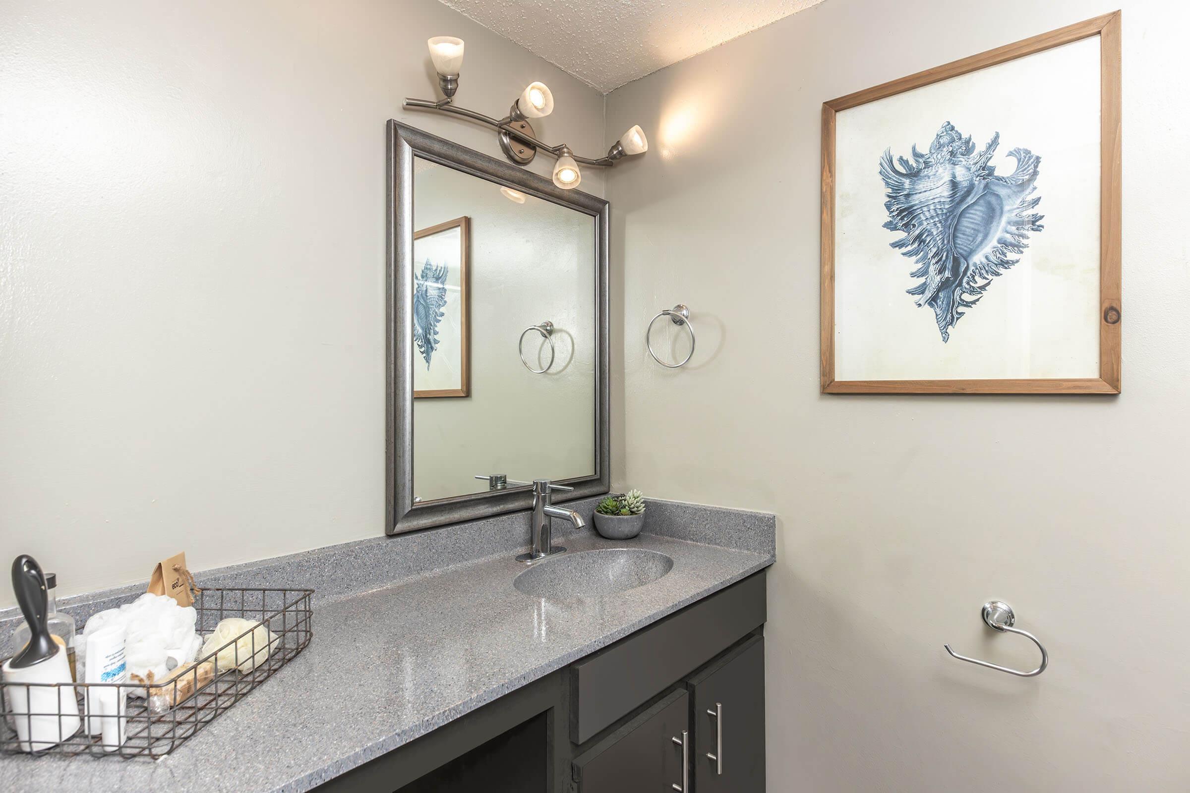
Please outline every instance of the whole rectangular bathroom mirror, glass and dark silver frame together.
[{"label": "whole rectangular bathroom mirror, glass and dark silver frame together", "polygon": [[389,534],[608,490],[608,204],[389,121]]}]

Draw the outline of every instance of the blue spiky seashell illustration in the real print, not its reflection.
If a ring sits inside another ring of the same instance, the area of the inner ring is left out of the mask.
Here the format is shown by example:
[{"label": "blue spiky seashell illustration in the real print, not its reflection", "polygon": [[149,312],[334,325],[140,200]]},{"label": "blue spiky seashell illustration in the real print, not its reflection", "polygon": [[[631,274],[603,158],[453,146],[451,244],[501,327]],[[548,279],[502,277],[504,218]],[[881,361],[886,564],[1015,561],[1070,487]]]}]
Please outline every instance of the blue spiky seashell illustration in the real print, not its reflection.
[{"label": "blue spiky seashell illustration in the real print, not its reflection", "polygon": [[979,302],[992,278],[1020,262],[1013,258],[1028,247],[1029,232],[1039,232],[1044,215],[1031,213],[1041,196],[1029,197],[1041,158],[1028,149],[1013,149],[1016,161],[1010,176],[996,176],[988,165],[1000,133],[987,149],[975,151],[971,137],[964,138],[950,121],[942,124],[929,151],[913,145],[913,162],[885,149],[881,156],[881,178],[888,191],[889,220],[884,228],[904,237],[890,245],[914,259],[910,275],[922,278],[908,294],[917,307],[934,309],[942,341],[951,328]]}]

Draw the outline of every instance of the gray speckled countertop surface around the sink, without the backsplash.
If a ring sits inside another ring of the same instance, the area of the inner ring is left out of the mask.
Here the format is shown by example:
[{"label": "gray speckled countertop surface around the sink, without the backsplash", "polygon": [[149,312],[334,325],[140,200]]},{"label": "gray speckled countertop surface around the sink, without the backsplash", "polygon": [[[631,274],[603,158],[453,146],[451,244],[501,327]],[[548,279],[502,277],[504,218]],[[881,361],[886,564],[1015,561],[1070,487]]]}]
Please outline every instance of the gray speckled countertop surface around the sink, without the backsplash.
[{"label": "gray speckled countertop surface around the sink, without the backsplash", "polygon": [[501,553],[317,604],[309,647],[174,754],[5,755],[0,789],[308,791],[774,561],[652,534],[559,540],[571,553],[658,550],[674,568],[627,592],[546,600],[513,589],[526,568]]}]

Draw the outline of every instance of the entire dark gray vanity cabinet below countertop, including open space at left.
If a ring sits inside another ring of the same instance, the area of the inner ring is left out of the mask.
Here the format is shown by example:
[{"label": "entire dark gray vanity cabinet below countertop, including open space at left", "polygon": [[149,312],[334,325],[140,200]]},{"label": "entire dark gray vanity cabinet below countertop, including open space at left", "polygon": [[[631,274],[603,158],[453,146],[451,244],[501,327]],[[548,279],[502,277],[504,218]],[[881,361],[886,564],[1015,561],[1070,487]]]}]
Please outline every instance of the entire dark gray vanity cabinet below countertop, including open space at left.
[{"label": "entire dark gray vanity cabinet below countertop, including open space at left", "polygon": [[709,594],[319,791],[762,793],[764,577]]}]

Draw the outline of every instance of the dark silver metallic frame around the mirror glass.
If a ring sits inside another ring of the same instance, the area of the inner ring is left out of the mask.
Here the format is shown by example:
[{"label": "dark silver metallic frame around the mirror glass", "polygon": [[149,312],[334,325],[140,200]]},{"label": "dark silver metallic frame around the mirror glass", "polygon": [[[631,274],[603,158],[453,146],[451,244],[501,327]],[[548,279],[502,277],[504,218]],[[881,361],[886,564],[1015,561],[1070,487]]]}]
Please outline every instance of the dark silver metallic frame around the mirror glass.
[{"label": "dark silver metallic frame around the mirror glass", "polygon": [[[388,122],[388,358],[386,361],[386,509],[384,533],[402,534],[459,521],[528,510],[532,486],[468,493],[426,503],[413,502],[413,158],[422,157],[489,182],[514,188],[595,220],[595,473],[560,479],[574,487],[565,499],[608,492],[610,422],[608,409],[608,202],[581,190],[563,190],[552,181],[481,155],[400,121]],[[533,442],[526,428],[525,439]],[[509,472],[514,473],[514,472]],[[549,471],[516,472],[547,478]],[[558,501],[563,501],[558,498]]]}]

